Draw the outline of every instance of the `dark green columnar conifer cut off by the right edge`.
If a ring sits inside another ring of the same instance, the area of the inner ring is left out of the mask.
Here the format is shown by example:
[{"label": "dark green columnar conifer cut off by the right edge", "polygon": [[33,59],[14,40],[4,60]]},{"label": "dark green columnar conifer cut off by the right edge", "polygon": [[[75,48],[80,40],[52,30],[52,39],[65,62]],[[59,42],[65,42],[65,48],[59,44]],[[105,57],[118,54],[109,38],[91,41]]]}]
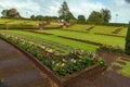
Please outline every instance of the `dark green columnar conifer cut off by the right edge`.
[{"label": "dark green columnar conifer cut off by the right edge", "polygon": [[125,52],[126,54],[130,55],[130,22],[129,22],[127,37],[126,37]]}]

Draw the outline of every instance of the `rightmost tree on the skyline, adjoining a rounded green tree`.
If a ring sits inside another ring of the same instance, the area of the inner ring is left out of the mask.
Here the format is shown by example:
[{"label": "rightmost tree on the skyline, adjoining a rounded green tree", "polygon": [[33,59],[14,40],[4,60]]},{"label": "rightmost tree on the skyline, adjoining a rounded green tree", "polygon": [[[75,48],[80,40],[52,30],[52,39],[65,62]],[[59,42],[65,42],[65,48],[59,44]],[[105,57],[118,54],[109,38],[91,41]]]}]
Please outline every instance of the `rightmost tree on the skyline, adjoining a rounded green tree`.
[{"label": "rightmost tree on the skyline, adjoining a rounded green tree", "polygon": [[102,9],[101,14],[102,14],[103,22],[108,23],[112,17],[110,11],[107,9]]}]

